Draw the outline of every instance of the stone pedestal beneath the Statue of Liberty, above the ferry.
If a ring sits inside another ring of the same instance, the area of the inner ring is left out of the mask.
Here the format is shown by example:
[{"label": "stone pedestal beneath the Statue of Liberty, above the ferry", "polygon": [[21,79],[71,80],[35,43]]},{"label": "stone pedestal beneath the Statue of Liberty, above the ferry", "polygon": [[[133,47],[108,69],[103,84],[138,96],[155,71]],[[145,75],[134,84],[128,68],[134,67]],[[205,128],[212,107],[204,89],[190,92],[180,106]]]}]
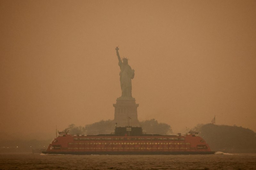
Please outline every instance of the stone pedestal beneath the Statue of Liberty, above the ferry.
[{"label": "stone pedestal beneath the Statue of Liberty, above the ferry", "polygon": [[134,98],[117,98],[115,107],[114,121],[117,123],[117,127],[132,126],[139,127],[137,107],[139,104],[135,103]]}]

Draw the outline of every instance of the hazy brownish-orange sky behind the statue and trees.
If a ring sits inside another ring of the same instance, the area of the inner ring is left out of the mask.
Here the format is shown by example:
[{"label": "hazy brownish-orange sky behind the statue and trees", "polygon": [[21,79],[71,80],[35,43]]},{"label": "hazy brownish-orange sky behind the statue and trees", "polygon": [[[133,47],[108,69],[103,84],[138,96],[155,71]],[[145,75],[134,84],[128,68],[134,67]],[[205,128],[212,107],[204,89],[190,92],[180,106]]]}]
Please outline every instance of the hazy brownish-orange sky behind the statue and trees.
[{"label": "hazy brownish-orange sky behind the statue and trees", "polygon": [[256,1],[0,1],[1,133],[114,119],[116,46],[140,121],[256,131]]}]

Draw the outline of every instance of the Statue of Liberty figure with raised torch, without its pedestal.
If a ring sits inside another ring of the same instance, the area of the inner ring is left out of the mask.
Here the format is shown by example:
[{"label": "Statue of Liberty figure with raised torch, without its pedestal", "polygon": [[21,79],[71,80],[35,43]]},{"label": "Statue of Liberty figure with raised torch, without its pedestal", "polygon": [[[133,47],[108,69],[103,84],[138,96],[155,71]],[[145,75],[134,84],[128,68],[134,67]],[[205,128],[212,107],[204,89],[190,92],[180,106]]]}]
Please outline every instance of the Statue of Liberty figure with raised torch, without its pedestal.
[{"label": "Statue of Liberty figure with raised torch, without its pedestal", "polygon": [[134,70],[128,64],[128,58],[120,58],[119,48],[116,47],[116,55],[118,58],[118,65],[120,67],[120,84],[122,89],[122,96],[119,99],[134,99],[132,98],[132,79],[134,78]]}]

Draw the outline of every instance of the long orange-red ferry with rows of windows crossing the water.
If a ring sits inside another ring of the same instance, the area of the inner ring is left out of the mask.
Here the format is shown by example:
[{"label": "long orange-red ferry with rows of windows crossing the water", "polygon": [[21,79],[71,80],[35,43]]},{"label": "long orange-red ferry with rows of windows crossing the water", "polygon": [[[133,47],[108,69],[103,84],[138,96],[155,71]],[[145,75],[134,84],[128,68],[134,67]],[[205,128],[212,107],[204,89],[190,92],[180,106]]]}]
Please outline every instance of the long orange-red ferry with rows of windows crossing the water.
[{"label": "long orange-red ferry with rows of windows crossing the water", "polygon": [[196,132],[186,135],[145,134],[141,127],[116,127],[113,134],[70,135],[59,132],[45,154],[174,155],[213,154]]}]

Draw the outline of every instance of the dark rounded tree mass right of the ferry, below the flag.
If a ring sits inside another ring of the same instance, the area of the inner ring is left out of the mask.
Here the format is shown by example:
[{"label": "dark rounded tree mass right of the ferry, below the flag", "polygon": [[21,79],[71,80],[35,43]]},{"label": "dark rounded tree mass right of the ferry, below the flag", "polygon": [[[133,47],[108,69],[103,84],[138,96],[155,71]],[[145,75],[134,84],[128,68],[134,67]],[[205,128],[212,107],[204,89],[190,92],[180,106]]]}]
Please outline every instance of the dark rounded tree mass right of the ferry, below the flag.
[{"label": "dark rounded tree mass right of the ferry, below the flag", "polygon": [[247,128],[198,124],[194,130],[210,145],[212,151],[256,152],[256,133]]}]

